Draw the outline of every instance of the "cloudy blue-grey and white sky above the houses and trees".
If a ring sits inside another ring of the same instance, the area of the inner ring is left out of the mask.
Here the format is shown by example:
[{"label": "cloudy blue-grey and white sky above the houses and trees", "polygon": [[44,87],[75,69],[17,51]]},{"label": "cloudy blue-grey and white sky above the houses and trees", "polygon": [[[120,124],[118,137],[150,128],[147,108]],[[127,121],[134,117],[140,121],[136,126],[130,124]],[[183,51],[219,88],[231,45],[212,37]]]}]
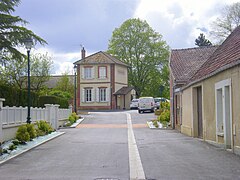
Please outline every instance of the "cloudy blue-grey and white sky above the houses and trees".
[{"label": "cloudy blue-grey and white sky above the houses and trees", "polygon": [[[53,57],[52,74],[72,72],[81,45],[86,55],[105,51],[115,28],[130,18],[146,20],[172,49],[194,47],[221,8],[238,0],[22,0],[14,15],[48,45],[34,52]],[[211,40],[211,39],[210,39]]]}]

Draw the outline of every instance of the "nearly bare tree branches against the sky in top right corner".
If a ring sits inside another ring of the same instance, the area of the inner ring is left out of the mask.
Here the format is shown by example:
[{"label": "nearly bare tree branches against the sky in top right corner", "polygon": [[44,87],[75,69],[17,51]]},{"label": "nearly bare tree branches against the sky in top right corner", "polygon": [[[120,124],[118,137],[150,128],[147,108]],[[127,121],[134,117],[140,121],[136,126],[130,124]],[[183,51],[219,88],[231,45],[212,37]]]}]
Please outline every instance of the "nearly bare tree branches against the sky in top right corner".
[{"label": "nearly bare tree branches against the sky in top right corner", "polygon": [[220,17],[212,22],[210,32],[220,42],[226,39],[240,25],[240,2],[225,6]]}]

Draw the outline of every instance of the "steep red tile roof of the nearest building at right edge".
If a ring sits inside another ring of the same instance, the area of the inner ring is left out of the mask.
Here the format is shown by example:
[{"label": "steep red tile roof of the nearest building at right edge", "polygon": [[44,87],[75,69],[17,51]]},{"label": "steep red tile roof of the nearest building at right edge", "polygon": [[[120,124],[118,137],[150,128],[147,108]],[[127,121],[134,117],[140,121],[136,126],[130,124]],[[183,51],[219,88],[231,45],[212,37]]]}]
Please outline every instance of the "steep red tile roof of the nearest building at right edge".
[{"label": "steep red tile roof of the nearest building at right edge", "polygon": [[240,61],[240,26],[220,45],[213,55],[191,78],[190,83],[210,77],[230,68]]}]

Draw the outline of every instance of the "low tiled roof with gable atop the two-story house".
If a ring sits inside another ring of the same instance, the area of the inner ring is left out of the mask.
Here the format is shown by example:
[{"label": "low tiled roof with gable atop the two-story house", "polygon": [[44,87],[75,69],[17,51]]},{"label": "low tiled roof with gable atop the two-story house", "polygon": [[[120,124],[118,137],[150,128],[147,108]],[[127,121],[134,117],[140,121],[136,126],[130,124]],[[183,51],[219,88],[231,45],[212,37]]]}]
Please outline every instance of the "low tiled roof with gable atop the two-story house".
[{"label": "low tiled roof with gable atop the two-story house", "polygon": [[76,61],[74,64],[119,64],[122,66],[127,66],[127,64],[118,60],[117,58],[111,56],[106,52],[99,51],[95,54],[87,56],[79,61]]}]

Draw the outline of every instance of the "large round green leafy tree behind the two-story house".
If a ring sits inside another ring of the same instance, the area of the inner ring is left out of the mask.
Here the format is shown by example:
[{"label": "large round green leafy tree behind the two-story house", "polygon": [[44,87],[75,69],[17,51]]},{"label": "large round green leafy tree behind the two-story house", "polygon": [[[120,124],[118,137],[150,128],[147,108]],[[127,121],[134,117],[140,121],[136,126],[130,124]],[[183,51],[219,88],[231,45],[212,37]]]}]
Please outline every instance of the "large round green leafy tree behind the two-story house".
[{"label": "large round green leafy tree behind the two-story house", "polygon": [[146,21],[129,19],[113,31],[108,53],[128,64],[129,85],[135,87],[137,96],[147,95],[152,80],[160,86],[161,67],[168,63],[169,47],[162,35],[155,32]]}]

